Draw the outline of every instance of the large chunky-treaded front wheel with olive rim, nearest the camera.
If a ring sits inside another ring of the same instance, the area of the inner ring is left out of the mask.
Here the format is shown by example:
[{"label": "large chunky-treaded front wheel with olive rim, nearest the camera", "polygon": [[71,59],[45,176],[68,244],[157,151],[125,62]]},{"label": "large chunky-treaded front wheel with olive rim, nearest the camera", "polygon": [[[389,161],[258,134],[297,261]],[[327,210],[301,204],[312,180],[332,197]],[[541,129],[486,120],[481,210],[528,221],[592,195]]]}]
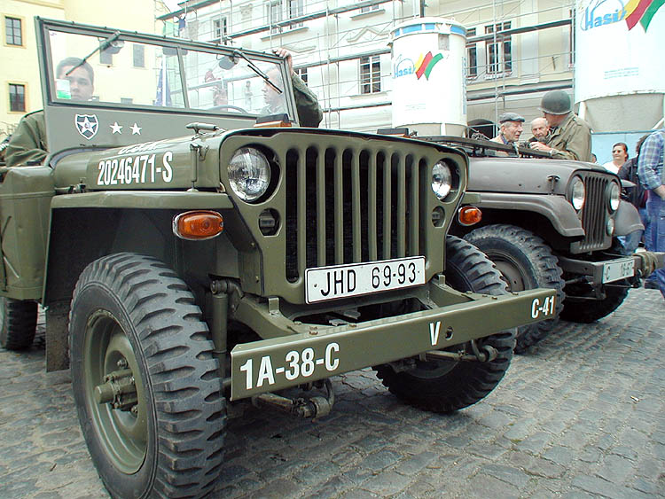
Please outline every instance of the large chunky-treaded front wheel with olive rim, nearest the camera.
[{"label": "large chunky-treaded front wheel with olive rim, nearest the camera", "polygon": [[222,462],[225,401],[192,292],[160,261],[93,261],[69,317],[74,401],[113,497],[197,497]]}]

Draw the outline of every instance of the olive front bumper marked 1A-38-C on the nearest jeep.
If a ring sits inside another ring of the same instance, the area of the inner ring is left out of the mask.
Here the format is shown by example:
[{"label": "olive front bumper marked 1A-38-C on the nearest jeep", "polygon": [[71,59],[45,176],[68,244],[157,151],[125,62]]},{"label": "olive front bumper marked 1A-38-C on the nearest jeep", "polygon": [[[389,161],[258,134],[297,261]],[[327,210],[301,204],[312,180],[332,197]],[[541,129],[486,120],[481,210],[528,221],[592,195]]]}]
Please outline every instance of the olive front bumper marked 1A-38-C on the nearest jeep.
[{"label": "olive front bumper marked 1A-38-C on the nearest jeep", "polygon": [[[450,288],[429,288],[434,306],[450,298]],[[550,289],[460,297],[463,302],[360,324],[291,323],[295,334],[240,344],[231,351],[231,401],[451,347],[550,318],[556,310]]]}]

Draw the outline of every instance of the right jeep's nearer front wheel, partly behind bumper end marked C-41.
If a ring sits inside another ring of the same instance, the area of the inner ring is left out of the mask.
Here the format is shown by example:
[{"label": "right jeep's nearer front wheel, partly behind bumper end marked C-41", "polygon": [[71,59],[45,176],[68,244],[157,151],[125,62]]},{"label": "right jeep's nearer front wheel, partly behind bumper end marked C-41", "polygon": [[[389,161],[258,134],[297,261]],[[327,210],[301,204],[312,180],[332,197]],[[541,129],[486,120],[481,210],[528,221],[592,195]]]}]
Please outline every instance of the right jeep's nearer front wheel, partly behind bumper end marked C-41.
[{"label": "right jeep's nearer front wheel, partly behind bumper end marked C-41", "polygon": [[513,225],[481,227],[467,234],[465,239],[494,261],[510,291],[546,287],[557,292],[554,318],[518,328],[515,352],[521,354],[543,339],[558,321],[566,296],[559,262],[543,239]]}]

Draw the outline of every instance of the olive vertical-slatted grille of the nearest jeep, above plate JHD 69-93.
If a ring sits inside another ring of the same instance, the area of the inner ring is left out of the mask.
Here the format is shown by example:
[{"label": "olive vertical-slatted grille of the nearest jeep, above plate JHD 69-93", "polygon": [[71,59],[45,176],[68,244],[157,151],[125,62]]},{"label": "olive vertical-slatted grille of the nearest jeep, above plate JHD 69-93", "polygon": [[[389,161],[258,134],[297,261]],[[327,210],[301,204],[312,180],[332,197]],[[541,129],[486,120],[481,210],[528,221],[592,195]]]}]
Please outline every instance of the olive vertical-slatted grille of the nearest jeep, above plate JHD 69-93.
[{"label": "olive vertical-slatted grille of the nearest jeep, above plate JHD 69-93", "polygon": [[286,154],[286,278],[312,267],[423,254],[426,161],[364,147]]}]

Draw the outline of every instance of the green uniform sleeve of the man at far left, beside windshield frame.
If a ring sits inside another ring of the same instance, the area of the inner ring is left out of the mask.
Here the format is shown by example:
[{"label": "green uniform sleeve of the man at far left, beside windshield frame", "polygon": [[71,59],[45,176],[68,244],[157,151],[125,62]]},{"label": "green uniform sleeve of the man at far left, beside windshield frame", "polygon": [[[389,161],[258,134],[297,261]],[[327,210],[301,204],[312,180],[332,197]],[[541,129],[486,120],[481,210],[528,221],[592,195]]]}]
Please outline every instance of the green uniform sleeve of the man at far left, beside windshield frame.
[{"label": "green uniform sleeve of the man at far left, beside windshield frame", "polygon": [[48,150],[43,111],[35,111],[21,118],[7,145],[5,160],[8,167],[25,166],[28,161],[43,160]]}]

